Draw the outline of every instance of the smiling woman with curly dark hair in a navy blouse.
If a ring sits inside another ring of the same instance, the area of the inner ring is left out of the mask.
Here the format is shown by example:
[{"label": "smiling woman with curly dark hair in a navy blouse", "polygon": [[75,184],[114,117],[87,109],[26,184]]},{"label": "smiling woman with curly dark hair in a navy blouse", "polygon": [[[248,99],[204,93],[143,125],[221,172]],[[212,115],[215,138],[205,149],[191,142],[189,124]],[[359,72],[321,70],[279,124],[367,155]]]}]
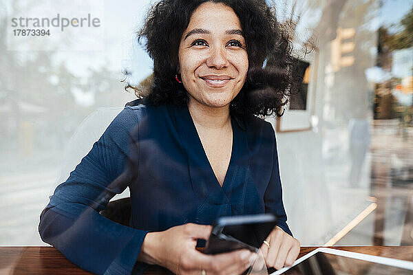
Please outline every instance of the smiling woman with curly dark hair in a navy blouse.
[{"label": "smiling woman with curly dark hair in a navy blouse", "polygon": [[[260,0],[165,0],[140,32],[153,58],[153,87],[109,125],[41,214],[39,232],[96,274],[241,274],[254,255],[206,255],[216,217],[273,212],[262,245],[268,267],[290,265],[299,242],[286,224],[271,124],[291,87],[290,47]],[[274,55],[272,70],[262,69]],[[268,72],[271,72],[268,73]],[[142,104],[143,103],[143,104]],[[102,217],[129,186],[126,227]]]}]

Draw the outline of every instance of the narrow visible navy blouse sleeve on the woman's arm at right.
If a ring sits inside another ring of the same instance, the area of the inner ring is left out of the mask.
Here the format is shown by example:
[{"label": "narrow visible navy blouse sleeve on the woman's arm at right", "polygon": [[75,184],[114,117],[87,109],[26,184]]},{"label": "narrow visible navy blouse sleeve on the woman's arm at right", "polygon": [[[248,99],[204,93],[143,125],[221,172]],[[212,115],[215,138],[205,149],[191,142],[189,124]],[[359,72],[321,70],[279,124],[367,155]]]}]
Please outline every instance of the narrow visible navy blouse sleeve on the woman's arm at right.
[{"label": "narrow visible navy blouse sleeve on the woman's arm at right", "polygon": [[277,216],[277,225],[284,230],[284,232],[293,236],[290,228],[287,225],[286,210],[284,210],[284,203],[282,202],[282,187],[281,179],[279,178],[279,166],[278,166],[278,154],[277,154],[277,141],[275,140],[275,133],[273,126],[271,126],[272,140],[273,142],[273,170],[271,172],[270,182],[264,193],[265,212],[273,213]]}]

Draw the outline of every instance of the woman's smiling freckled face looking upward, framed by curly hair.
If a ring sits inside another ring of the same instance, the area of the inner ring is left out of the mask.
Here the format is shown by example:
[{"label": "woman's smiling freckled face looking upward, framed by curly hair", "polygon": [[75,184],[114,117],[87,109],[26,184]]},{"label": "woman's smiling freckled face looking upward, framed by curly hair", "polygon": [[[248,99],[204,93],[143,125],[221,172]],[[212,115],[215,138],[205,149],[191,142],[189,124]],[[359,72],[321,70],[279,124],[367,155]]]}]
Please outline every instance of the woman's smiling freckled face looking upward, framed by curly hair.
[{"label": "woman's smiling freckled face looking upward, framed by curly hair", "polygon": [[228,105],[248,71],[246,42],[232,8],[213,2],[200,5],[182,34],[178,56],[189,100],[208,107]]}]

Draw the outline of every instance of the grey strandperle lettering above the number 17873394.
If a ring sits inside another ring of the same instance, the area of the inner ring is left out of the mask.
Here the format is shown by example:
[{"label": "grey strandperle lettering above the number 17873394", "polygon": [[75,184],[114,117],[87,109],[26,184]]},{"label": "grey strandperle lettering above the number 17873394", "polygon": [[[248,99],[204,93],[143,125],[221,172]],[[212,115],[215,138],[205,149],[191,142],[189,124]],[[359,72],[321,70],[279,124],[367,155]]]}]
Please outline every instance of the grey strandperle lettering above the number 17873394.
[{"label": "grey strandperle lettering above the number 17873394", "polygon": [[100,19],[97,17],[92,17],[91,14],[87,14],[87,17],[61,17],[58,13],[56,17],[50,18],[37,18],[37,17],[13,17],[11,19],[12,28],[50,28],[56,27],[60,28],[63,32],[65,28],[99,28]]}]

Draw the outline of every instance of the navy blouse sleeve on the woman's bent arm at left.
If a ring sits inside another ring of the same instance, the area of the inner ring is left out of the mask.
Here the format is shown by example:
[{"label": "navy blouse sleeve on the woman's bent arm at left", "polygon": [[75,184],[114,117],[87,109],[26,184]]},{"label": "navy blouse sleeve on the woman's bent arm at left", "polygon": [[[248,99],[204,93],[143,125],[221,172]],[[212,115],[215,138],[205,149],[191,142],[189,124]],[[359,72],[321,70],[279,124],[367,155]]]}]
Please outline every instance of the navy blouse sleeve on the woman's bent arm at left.
[{"label": "navy blouse sleeve on the woman's bent arm at left", "polygon": [[136,169],[130,166],[136,163],[137,124],[133,109],[121,111],[70,177],[57,186],[40,217],[41,239],[94,274],[131,274],[147,234],[99,214],[134,179]]}]

